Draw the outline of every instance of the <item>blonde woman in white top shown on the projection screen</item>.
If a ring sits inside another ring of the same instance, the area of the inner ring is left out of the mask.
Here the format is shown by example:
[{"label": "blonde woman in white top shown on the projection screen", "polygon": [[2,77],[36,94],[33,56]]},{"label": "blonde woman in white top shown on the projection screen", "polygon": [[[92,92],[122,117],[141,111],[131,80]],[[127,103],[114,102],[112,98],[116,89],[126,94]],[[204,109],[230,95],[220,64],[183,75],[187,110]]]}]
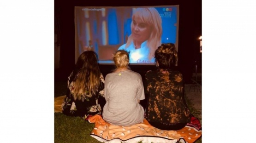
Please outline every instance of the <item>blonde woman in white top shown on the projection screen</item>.
[{"label": "blonde woman in white top shown on the projection screen", "polygon": [[131,35],[124,49],[130,55],[130,63],[155,63],[154,52],[161,45],[162,19],[153,7],[137,8],[132,15]]}]

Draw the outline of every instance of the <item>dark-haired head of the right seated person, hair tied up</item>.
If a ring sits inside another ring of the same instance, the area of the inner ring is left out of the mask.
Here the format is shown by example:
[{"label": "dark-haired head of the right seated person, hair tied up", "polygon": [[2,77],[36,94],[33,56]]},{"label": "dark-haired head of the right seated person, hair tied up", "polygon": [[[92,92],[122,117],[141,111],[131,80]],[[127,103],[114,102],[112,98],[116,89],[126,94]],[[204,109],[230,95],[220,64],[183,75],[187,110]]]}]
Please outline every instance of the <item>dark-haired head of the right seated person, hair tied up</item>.
[{"label": "dark-haired head of the right seated person, hair tied up", "polygon": [[171,69],[177,60],[178,52],[173,43],[161,44],[155,50],[155,62],[160,69]]}]

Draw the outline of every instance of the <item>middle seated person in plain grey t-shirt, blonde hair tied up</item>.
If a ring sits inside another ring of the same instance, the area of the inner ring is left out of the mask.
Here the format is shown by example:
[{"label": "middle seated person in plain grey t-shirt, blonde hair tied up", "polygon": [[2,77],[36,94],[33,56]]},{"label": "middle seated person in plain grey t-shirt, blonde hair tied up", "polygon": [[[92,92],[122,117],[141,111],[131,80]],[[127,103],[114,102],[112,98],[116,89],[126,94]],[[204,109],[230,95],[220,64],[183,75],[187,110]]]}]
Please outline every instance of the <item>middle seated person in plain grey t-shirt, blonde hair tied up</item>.
[{"label": "middle seated person in plain grey t-shirt, blonde hair tied up", "polygon": [[131,126],[144,119],[144,109],[139,103],[140,100],[145,99],[143,81],[140,74],[127,68],[128,53],[124,50],[120,51],[117,51],[116,56],[125,55],[126,64],[117,66],[113,73],[106,75],[104,88],[106,104],[102,116],[110,124]]}]

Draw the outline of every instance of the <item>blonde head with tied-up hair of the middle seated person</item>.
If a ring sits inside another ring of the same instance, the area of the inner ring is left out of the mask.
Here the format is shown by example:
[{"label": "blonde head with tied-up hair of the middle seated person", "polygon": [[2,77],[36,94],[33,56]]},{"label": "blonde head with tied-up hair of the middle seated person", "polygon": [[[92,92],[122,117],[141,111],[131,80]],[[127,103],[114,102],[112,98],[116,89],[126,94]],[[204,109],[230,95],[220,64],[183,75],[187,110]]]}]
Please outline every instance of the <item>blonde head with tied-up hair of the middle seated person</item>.
[{"label": "blonde head with tied-up hair of the middle seated person", "polygon": [[125,50],[118,50],[113,55],[113,61],[116,69],[127,68],[129,64],[129,53]]}]

